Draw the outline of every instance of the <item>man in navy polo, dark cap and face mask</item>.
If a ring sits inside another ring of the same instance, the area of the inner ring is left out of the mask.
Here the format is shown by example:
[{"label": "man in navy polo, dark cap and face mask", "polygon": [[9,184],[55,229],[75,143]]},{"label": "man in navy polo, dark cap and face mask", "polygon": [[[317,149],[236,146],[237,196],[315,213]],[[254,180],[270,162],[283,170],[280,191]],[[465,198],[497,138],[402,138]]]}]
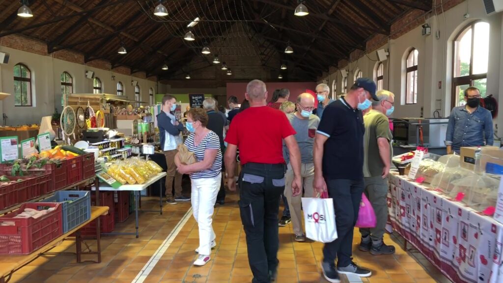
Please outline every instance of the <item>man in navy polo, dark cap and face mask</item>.
[{"label": "man in navy polo, dark cap and face mask", "polygon": [[324,109],[316,131],[313,187],[320,193],[328,191],[333,199],[339,237],[323,247],[321,266],[329,282],[340,282],[339,273],[360,277],[372,274],[352,261],[352,244],[365,187],[362,110],[371,106],[370,99],[378,100],[375,92],[376,85],[371,79],[358,79],[348,95]]}]

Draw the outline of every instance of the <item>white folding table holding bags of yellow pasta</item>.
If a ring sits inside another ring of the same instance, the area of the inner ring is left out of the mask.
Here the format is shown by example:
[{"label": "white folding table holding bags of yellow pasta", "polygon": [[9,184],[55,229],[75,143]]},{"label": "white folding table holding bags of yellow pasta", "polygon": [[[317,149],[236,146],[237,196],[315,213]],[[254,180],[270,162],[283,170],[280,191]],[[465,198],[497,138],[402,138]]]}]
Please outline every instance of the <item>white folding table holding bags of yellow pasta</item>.
[{"label": "white folding table holding bags of yellow pasta", "polygon": [[[139,198],[140,198],[140,191],[148,188],[151,184],[155,183],[156,181],[160,180],[162,177],[166,176],[166,172],[161,172],[157,174],[156,176],[150,178],[147,182],[144,184],[134,184],[134,185],[122,185],[117,189],[112,188],[111,186],[108,186],[107,184],[100,184],[98,186],[98,192],[99,191],[134,191],[134,197],[135,197],[135,220],[136,220],[136,232],[128,232],[128,233],[103,233],[103,235],[136,235],[136,238],[139,237],[138,233],[138,203],[139,203]],[[162,215],[162,183],[159,183],[159,214]],[[96,188],[93,186],[93,190]],[[146,212],[157,212],[157,210],[141,210],[141,211],[146,211]]]}]

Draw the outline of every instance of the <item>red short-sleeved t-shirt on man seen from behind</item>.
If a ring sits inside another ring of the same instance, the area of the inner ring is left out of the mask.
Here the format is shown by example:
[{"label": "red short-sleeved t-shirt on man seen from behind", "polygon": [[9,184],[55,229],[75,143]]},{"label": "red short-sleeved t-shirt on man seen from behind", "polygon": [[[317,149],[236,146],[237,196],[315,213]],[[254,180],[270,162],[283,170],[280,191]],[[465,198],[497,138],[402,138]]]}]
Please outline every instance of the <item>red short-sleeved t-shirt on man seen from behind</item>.
[{"label": "red short-sleeved t-shirt on man seen from behind", "polygon": [[241,165],[281,164],[283,139],[295,133],[285,113],[268,106],[250,107],[232,119],[225,142],[239,148]]}]

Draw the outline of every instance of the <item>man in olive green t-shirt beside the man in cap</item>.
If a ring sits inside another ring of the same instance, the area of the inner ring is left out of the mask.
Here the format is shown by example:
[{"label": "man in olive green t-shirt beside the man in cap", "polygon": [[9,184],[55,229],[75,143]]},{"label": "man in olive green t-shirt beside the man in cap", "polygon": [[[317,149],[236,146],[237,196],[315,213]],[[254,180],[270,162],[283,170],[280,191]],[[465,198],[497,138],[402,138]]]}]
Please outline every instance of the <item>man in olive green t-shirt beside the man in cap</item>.
[{"label": "man in olive green t-shirt beside the man in cap", "polygon": [[369,251],[373,255],[393,254],[394,246],[383,242],[388,206],[386,195],[388,185],[386,177],[391,166],[391,130],[388,116],[394,110],[394,94],[381,90],[377,92],[378,101],[372,102],[372,109],[363,117],[365,123],[363,176],[365,180],[365,195],[374,208],[377,225],[375,228],[361,228],[361,251]]}]

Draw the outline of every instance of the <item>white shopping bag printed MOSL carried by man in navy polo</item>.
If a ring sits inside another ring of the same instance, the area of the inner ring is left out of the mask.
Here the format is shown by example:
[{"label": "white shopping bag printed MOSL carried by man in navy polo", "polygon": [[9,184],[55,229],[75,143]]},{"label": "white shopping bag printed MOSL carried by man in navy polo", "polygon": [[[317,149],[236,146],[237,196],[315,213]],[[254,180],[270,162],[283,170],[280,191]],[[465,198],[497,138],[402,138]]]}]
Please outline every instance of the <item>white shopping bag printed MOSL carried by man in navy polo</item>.
[{"label": "white shopping bag printed MOSL carried by man in navy polo", "polygon": [[337,239],[336,214],[333,212],[332,199],[323,194],[322,198],[303,197],[302,209],[307,238],[329,243]]}]

